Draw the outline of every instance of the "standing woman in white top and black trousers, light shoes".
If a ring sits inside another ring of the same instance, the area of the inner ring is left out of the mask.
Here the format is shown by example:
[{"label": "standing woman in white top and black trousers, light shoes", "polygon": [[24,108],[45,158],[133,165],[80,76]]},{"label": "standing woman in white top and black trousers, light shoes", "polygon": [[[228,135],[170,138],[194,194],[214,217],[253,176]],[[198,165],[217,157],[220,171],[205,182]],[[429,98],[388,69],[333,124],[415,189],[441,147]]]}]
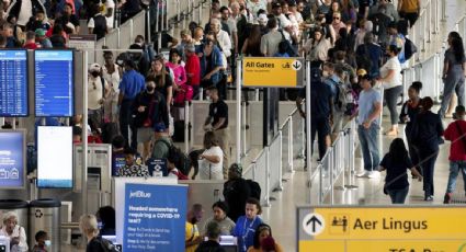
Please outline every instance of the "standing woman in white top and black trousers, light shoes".
[{"label": "standing woman in white top and black trousers, light shoes", "polygon": [[389,59],[380,68],[380,79],[378,80],[384,88],[384,96],[390,111],[391,128],[385,133],[387,136],[398,135],[398,112],[397,100],[402,92],[401,65],[398,59],[399,48],[396,45],[389,45],[387,48]]}]

